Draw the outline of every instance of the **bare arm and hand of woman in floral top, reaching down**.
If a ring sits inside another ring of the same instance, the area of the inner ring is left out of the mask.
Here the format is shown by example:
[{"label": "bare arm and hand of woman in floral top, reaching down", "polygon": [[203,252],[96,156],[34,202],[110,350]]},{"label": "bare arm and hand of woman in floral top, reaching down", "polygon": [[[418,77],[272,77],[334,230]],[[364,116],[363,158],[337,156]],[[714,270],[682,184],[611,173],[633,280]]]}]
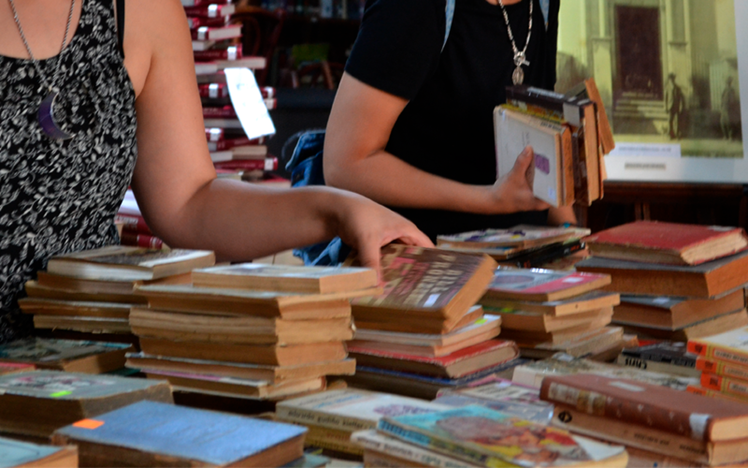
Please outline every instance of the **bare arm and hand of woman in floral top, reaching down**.
[{"label": "bare arm and hand of woman in floral top, reaching down", "polygon": [[125,64],[138,113],[132,189],[166,243],[249,260],[340,235],[368,266],[378,265],[379,247],[392,240],[431,245],[411,222],[361,195],[216,179],[183,7],[177,0],[131,0],[125,19]]}]

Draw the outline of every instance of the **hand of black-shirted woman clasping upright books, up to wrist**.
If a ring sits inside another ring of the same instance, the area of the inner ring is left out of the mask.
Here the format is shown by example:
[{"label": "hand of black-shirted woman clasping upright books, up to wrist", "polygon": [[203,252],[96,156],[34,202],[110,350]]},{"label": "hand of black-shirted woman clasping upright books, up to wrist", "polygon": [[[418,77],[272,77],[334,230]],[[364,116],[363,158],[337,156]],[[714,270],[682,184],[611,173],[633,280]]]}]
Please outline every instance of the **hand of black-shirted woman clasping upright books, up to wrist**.
[{"label": "hand of black-shirted woman clasping upright books, up to wrist", "polygon": [[517,156],[512,171],[500,177],[489,187],[491,214],[515,213],[517,211],[546,210],[551,207],[533,195],[535,177],[535,153],[528,146]]}]

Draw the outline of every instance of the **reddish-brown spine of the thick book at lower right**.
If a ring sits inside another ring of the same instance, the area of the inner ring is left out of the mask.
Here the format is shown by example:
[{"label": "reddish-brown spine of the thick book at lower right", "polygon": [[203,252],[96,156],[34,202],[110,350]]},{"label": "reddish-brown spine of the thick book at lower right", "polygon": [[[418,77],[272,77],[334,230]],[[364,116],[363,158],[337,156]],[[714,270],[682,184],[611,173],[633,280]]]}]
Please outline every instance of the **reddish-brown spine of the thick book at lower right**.
[{"label": "reddish-brown spine of the thick book at lower right", "polygon": [[[632,394],[636,391],[637,389],[631,389]],[[594,416],[604,416],[607,419],[658,428],[684,437],[693,437],[695,440],[708,440],[711,428],[711,418],[703,421],[701,430],[698,431],[692,427],[693,415],[691,413],[642,404],[615,395],[604,395],[566,383],[558,383],[554,381],[554,377],[546,377],[543,380],[540,398],[554,404],[566,404]]]}]

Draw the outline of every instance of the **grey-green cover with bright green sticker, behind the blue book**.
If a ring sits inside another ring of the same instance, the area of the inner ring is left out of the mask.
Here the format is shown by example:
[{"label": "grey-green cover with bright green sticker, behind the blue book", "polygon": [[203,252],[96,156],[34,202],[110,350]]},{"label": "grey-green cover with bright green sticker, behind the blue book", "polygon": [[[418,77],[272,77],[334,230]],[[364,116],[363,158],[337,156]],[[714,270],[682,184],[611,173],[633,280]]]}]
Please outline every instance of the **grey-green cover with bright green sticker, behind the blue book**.
[{"label": "grey-green cover with bright green sticker, behind the blue book", "polygon": [[133,379],[105,374],[28,371],[0,376],[0,395],[13,394],[57,400],[102,398],[163,386],[162,380]]}]

